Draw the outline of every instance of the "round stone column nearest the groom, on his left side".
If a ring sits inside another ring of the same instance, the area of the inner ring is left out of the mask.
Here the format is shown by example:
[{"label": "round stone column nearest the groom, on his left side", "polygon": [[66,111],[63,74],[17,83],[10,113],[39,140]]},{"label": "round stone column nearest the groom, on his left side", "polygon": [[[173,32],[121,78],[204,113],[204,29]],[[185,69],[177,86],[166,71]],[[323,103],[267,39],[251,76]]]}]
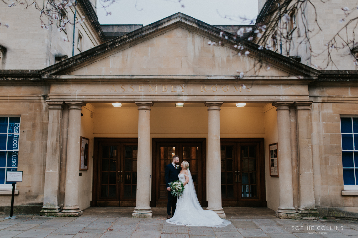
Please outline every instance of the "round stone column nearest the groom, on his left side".
[{"label": "round stone column nearest the groom, on his left side", "polygon": [[133,217],[151,218],[150,199],[150,107],[153,102],[136,101],[138,106],[137,196]]}]

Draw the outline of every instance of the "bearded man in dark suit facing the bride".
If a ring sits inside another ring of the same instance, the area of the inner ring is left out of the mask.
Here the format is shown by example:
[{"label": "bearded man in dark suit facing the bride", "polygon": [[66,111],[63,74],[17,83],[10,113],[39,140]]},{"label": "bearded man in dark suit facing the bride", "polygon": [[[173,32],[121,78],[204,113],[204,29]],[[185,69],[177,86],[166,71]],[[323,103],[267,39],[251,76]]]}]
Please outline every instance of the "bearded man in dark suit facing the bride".
[{"label": "bearded man in dark suit facing the bride", "polygon": [[178,174],[181,170],[182,168],[179,166],[179,156],[174,155],[173,162],[171,162],[165,167],[165,183],[166,189],[168,190],[168,209],[166,210],[166,212],[168,213],[168,217],[166,219],[170,219],[170,208],[173,209],[174,216],[176,206],[176,197],[171,195],[169,183],[179,179]]}]

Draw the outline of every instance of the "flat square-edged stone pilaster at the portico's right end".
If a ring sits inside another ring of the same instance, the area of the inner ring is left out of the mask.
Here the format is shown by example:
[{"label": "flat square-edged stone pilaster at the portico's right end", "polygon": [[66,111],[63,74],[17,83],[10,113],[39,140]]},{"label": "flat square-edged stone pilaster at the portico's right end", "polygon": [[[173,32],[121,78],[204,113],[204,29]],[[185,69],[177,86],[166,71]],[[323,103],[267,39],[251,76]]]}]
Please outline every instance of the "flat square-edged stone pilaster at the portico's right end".
[{"label": "flat square-edged stone pilaster at the portico's right end", "polygon": [[315,208],[313,160],[310,129],[310,106],[312,102],[295,102],[297,147],[299,161],[299,207],[301,217],[314,217],[318,219]]}]

